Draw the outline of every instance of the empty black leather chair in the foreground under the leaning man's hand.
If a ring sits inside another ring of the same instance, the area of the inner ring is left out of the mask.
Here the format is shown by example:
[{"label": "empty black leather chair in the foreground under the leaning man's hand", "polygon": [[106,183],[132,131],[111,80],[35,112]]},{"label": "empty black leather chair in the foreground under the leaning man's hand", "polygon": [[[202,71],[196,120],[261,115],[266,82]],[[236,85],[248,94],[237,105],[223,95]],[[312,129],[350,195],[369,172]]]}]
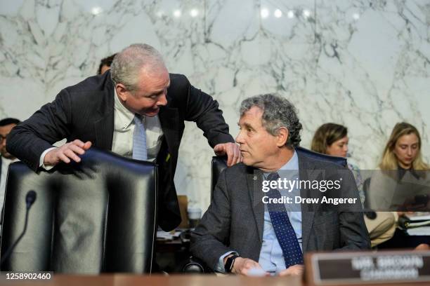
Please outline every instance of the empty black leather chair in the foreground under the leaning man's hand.
[{"label": "empty black leather chair in the foreground under the leaning man's hand", "polygon": [[80,163],[38,174],[24,163],[8,171],[1,253],[25,222],[27,233],[1,271],[150,273],[157,231],[157,168],[91,148]]}]

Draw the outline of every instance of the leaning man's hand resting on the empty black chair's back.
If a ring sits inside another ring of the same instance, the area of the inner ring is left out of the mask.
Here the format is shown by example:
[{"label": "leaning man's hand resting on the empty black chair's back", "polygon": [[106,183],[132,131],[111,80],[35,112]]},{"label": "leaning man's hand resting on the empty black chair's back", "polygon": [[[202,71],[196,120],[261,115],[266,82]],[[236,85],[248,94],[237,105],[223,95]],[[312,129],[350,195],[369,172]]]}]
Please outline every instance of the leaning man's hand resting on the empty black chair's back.
[{"label": "leaning man's hand resting on the empty black chair's back", "polygon": [[91,142],[87,141],[84,143],[76,139],[46,153],[44,165],[57,165],[60,162],[70,163],[70,159],[80,162],[81,158],[77,154],[83,155],[90,147]]}]

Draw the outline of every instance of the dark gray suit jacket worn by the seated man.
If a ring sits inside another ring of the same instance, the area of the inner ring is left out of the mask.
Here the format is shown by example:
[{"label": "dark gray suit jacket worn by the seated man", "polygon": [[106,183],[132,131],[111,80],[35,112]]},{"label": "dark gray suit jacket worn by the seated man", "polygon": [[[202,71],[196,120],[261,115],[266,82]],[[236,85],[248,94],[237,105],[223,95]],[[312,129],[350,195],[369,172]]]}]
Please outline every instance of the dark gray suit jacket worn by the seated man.
[{"label": "dark gray suit jacket worn by the seated man", "polygon": [[[299,156],[300,180],[343,177],[344,198],[358,198],[353,207],[361,210],[360,198],[351,171],[339,165]],[[342,171],[340,171],[342,170]],[[262,172],[242,163],[226,168],[216,184],[214,199],[191,235],[191,252],[214,268],[219,257],[235,251],[241,257],[259,261],[264,224],[261,191]],[[322,196],[320,191],[301,189],[302,198]],[[317,206],[318,207],[318,206]],[[362,212],[305,210],[301,206],[304,252],[315,250],[369,249],[370,240]]]}]

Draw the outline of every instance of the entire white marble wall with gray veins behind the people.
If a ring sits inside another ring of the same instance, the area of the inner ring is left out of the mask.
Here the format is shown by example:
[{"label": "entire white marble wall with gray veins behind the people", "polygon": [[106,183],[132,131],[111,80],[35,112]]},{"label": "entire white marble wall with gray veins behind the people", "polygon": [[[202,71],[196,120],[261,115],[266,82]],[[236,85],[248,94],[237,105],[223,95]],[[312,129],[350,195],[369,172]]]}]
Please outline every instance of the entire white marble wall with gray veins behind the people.
[{"label": "entire white marble wall with gray veins behind the people", "polygon": [[[429,27],[430,0],[3,0],[0,118],[27,118],[101,57],[145,42],[220,102],[233,136],[242,99],[278,92],[299,109],[304,147],[341,123],[351,161],[370,169],[408,121],[430,161]],[[212,151],[194,123],[180,152],[177,189],[205,210]]]}]

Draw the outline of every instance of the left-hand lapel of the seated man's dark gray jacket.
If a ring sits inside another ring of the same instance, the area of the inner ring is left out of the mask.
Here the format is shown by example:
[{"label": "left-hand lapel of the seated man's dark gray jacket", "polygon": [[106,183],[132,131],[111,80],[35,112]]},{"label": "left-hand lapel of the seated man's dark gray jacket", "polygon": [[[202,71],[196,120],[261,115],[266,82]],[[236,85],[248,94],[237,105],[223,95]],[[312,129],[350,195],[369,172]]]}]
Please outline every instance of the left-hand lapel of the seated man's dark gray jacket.
[{"label": "left-hand lapel of the seated man's dark gray jacket", "polygon": [[263,225],[264,225],[264,204],[263,191],[261,186],[263,184],[263,172],[259,169],[248,168],[247,169],[247,186],[249,199],[252,202],[252,210],[254,212],[254,219],[256,223],[256,229],[259,233],[260,243],[263,241]]}]

